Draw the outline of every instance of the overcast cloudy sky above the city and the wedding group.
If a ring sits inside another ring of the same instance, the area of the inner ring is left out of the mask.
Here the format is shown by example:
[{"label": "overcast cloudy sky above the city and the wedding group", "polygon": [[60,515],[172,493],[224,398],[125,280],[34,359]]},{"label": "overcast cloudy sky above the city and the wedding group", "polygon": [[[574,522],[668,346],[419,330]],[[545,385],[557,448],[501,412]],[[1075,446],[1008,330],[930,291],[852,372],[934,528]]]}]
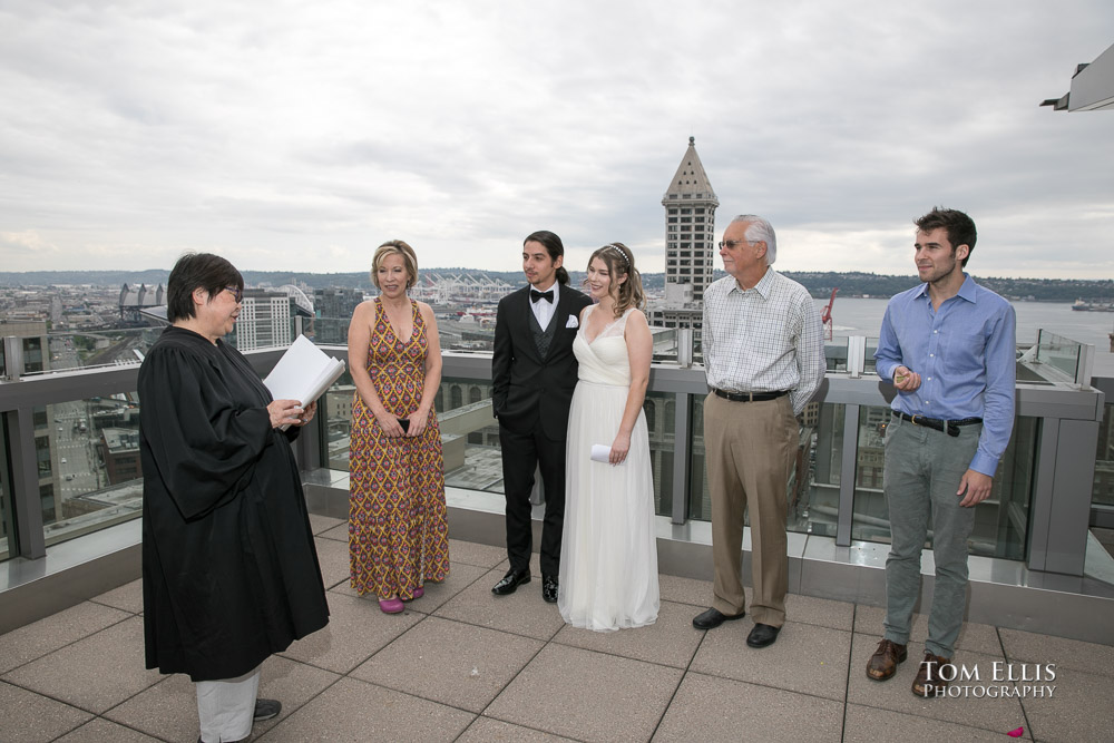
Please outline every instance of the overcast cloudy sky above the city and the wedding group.
[{"label": "overcast cloudy sky above the city and the wedding group", "polygon": [[0,0],[0,270],[512,271],[548,228],[663,271],[690,135],[786,271],[1114,277],[1114,111],[1053,111],[1110,0]]}]

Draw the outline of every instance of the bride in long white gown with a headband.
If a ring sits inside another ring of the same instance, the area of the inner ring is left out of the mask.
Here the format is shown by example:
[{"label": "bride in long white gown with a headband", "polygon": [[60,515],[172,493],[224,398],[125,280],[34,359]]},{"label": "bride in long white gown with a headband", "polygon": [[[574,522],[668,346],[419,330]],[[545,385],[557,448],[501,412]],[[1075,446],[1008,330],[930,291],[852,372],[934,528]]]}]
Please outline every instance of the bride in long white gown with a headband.
[{"label": "bride in long white gown with a headband", "polygon": [[[642,278],[622,243],[592,254],[586,284],[598,302],[573,342],[579,374],[569,409],[565,530],[557,608],[597,632],[657,619],[657,540],[649,434],[642,404],[653,340]],[[592,459],[593,444],[610,448]]]}]

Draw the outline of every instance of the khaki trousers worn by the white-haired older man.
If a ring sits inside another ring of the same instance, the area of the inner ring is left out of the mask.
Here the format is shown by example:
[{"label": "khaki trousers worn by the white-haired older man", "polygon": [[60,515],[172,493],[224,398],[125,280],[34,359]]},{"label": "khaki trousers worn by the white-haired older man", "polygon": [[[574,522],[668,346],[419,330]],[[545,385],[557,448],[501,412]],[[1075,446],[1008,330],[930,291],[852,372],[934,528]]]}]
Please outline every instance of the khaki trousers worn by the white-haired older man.
[{"label": "khaki trousers worn by the white-haired older man", "polygon": [[744,612],[743,514],[750,509],[751,579],[755,623],[785,623],[789,558],[786,488],[797,454],[798,427],[789,395],[764,402],[704,401],[704,449],[712,495],[713,608]]}]

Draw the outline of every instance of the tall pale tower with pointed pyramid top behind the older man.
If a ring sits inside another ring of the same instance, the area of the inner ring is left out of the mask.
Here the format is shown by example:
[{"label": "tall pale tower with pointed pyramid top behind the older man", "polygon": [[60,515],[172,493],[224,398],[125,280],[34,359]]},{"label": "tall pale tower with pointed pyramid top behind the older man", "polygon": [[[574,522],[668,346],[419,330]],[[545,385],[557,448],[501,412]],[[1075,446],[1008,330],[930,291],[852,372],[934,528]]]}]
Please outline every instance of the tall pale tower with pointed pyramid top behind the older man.
[{"label": "tall pale tower with pointed pyramid top behind the older man", "polygon": [[720,199],[696,154],[696,138],[688,137],[688,150],[662,197],[667,306],[703,305],[704,289],[712,283],[715,262],[715,207],[719,205]]}]

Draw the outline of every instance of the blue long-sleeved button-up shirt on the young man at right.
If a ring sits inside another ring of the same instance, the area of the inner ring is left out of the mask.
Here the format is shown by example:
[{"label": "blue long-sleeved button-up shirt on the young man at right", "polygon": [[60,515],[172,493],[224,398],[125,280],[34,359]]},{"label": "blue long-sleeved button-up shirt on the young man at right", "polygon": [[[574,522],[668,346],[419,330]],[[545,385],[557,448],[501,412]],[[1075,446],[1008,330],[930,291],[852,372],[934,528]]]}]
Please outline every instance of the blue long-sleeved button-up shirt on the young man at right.
[{"label": "blue long-sleeved button-up shirt on the young man at right", "polygon": [[893,381],[906,366],[920,387],[898,391],[893,410],[944,420],[981,418],[970,469],[994,477],[1014,428],[1017,377],[1014,307],[965,274],[959,293],[932,309],[928,284],[890,300],[874,353],[878,374]]}]

